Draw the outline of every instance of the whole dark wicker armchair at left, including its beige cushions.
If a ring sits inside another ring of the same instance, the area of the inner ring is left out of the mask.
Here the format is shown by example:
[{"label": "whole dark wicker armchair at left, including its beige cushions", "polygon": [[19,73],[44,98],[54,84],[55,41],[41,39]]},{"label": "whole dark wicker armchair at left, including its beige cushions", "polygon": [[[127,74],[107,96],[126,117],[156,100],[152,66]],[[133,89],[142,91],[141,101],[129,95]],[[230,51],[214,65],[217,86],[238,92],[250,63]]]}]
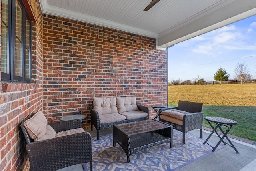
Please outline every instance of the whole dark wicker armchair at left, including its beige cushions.
[{"label": "whole dark wicker armchair at left, including its beige cushions", "polygon": [[20,125],[26,139],[30,171],[56,171],[90,162],[92,143],[90,133],[82,128],[80,119],[47,124],[41,111],[30,114]]}]

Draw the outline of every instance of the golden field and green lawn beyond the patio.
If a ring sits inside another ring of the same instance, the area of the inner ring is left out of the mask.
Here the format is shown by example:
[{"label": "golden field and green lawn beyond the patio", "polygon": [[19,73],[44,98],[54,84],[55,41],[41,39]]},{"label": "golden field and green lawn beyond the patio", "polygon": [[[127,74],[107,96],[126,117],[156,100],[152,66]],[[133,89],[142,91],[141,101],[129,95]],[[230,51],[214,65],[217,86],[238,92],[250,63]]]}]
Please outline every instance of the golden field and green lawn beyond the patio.
[{"label": "golden field and green lawn beyond the patio", "polygon": [[[203,103],[204,117],[217,116],[238,122],[231,135],[256,141],[256,84],[169,86],[169,106],[179,100]],[[206,120],[203,126],[210,128]]]}]

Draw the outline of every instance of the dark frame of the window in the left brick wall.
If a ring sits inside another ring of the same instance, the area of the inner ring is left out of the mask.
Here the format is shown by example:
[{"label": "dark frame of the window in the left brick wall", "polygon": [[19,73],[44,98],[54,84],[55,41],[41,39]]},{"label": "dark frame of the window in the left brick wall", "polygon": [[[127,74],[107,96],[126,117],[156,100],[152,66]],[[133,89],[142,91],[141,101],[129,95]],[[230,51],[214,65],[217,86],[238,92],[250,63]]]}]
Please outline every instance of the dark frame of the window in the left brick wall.
[{"label": "dark frame of the window in the left brick wall", "polygon": [[[7,59],[9,64],[8,73],[1,71],[1,81],[8,82],[26,82],[31,83],[31,46],[32,46],[32,20],[28,15],[26,6],[22,0],[18,0],[22,8],[22,40],[21,40],[21,61],[22,61],[22,76],[16,76],[15,73],[15,36],[16,36],[16,0],[8,0],[8,37],[7,37]],[[26,68],[26,21],[29,22],[29,65]],[[29,72],[29,78],[26,78]]]}]

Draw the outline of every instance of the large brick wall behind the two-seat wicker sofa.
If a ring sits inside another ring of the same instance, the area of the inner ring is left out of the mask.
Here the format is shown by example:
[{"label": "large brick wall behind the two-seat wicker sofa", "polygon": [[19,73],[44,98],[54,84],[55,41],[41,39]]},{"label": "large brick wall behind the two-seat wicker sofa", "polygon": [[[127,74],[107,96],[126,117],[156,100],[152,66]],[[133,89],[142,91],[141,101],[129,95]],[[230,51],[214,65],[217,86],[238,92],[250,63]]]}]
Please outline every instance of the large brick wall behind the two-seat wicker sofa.
[{"label": "large brick wall behind the two-seat wicker sofa", "polygon": [[[43,111],[50,121],[84,114],[92,97],[167,104],[167,53],[154,38],[43,14]],[[150,116],[156,113],[150,110]]]}]

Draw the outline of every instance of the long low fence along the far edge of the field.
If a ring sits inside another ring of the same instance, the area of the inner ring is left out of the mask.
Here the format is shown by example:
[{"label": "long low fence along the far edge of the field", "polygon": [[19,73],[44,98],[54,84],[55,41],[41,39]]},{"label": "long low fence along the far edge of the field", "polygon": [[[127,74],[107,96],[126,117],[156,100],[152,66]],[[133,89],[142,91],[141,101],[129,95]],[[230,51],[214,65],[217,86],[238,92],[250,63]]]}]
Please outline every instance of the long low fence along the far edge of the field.
[{"label": "long low fence along the far edge of the field", "polygon": [[[256,83],[256,80],[242,80],[242,84]],[[181,83],[168,83],[168,85],[214,85],[214,84],[241,84],[241,80],[228,80],[228,81],[210,81],[210,82],[181,82]]]}]

